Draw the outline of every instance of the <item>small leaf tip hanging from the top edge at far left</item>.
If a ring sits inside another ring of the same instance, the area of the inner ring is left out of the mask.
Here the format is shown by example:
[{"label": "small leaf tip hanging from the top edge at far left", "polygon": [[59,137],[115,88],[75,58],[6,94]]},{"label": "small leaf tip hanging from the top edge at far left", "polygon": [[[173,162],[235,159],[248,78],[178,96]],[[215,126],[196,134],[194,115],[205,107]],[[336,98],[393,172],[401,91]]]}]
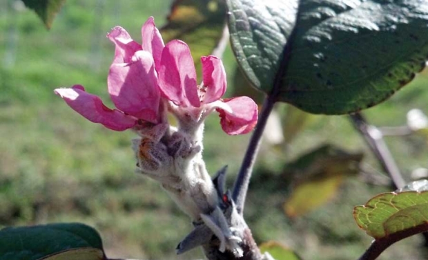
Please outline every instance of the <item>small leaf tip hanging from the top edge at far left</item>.
[{"label": "small leaf tip hanging from the top edge at far left", "polygon": [[50,29],[52,21],[57,15],[57,12],[64,5],[66,0],[22,0],[25,5],[35,10],[41,21],[45,24],[46,28]]}]

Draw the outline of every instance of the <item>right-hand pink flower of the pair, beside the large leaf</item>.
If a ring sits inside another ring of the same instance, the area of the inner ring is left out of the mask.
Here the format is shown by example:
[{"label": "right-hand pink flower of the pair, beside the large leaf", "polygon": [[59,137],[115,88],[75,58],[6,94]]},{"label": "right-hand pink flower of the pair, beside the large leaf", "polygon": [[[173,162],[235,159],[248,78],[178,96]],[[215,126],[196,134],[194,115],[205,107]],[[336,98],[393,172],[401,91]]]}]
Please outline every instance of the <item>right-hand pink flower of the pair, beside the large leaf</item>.
[{"label": "right-hand pink flower of the pair, beside the large leaf", "polygon": [[226,92],[226,72],[221,59],[202,57],[202,86],[197,86],[191,51],[183,41],[164,47],[159,68],[162,95],[182,108],[216,109],[222,129],[230,134],[248,133],[257,122],[257,104],[249,97],[221,100]]}]

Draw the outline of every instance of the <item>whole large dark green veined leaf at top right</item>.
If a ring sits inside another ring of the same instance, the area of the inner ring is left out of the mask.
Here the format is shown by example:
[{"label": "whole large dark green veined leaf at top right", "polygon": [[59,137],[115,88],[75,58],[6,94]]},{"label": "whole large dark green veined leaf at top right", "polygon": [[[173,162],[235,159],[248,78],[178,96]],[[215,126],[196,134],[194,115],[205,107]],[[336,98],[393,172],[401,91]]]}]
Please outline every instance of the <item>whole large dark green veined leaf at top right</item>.
[{"label": "whole large dark green veined leaf at top right", "polygon": [[428,1],[228,0],[237,61],[266,93],[311,113],[382,102],[425,67]]}]

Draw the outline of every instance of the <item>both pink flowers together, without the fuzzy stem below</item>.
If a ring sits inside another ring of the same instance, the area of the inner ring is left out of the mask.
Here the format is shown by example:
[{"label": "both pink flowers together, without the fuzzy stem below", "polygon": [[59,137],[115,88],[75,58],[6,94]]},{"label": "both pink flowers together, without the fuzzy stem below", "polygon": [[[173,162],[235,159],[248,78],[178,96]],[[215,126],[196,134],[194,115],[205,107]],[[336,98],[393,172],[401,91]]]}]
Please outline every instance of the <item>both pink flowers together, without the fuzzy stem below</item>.
[{"label": "both pink flowers together, without the fuzzy stem below", "polygon": [[220,113],[222,129],[228,134],[248,133],[255,126],[257,105],[251,98],[222,100],[226,91],[222,61],[214,56],[201,58],[203,79],[198,86],[187,44],[173,40],[165,45],[153,17],[142,26],[141,45],[119,26],[107,37],[116,46],[107,84],[117,109],[109,109],[81,85],[55,90],[88,120],[124,131],[140,128],[144,122],[164,123],[164,113],[170,111],[180,123],[196,126],[216,110]]}]

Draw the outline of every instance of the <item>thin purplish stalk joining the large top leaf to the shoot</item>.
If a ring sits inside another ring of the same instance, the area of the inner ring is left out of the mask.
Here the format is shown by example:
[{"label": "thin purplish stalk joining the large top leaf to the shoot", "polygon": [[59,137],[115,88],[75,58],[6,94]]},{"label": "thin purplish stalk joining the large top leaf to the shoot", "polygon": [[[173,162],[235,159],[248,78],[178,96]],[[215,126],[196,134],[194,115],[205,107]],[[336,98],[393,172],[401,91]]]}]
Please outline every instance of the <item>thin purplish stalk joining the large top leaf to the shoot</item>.
[{"label": "thin purplish stalk joining the large top leaf to the shoot", "polygon": [[264,100],[262,113],[260,113],[257,126],[255,127],[253,136],[251,136],[249,147],[246,149],[244,160],[242,160],[241,169],[235,180],[235,185],[233,186],[232,198],[233,201],[235,201],[237,212],[240,214],[244,212],[246,192],[249,187],[255,158],[257,157],[257,152],[260,148],[264,127],[266,127],[267,119],[269,118],[269,114],[273,109],[273,104],[275,104],[274,98],[275,97],[273,95],[268,95],[266,100]]}]

